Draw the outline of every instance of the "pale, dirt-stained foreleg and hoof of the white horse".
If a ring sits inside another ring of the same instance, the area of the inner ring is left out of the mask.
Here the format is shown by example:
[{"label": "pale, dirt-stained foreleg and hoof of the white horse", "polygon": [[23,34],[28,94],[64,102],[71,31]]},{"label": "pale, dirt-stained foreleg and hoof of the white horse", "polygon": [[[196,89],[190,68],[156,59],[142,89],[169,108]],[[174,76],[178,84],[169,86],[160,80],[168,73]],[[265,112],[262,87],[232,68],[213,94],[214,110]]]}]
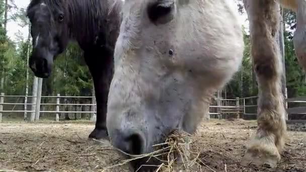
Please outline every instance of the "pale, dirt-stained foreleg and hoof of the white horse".
[{"label": "pale, dirt-stained foreleg and hoof of the white horse", "polygon": [[249,0],[247,3],[259,99],[257,132],[247,146],[242,165],[254,163],[275,167],[280,160],[286,132],[281,93],[282,65],[277,43],[279,8],[271,0]]}]

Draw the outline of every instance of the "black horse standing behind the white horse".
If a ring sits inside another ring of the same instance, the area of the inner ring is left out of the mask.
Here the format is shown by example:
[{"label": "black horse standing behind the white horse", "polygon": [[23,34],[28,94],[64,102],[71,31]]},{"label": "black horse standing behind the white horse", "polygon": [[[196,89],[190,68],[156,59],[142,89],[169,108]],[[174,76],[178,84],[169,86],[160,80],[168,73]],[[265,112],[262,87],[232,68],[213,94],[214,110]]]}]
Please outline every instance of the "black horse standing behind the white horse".
[{"label": "black horse standing behind the white horse", "polygon": [[32,0],[27,9],[33,51],[29,65],[49,77],[53,60],[69,41],[77,41],[93,76],[97,121],[90,138],[106,138],[107,98],[113,77],[113,52],[121,23],[121,0]]}]

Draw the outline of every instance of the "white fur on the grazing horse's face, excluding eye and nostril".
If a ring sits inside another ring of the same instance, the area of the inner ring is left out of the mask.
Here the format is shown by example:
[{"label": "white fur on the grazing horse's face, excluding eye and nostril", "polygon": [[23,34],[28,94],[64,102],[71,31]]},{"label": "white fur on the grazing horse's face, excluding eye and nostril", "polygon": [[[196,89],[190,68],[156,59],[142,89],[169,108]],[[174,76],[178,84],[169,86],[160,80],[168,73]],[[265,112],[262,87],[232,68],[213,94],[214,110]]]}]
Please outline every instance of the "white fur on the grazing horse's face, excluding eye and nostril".
[{"label": "white fur on the grazing horse's face, excluding eye and nostril", "polygon": [[244,50],[234,2],[175,1],[174,20],[160,25],[145,15],[152,2],[125,1],[107,110],[111,138],[118,130],[147,131],[147,149],[165,132],[162,123],[195,131],[211,95],[239,69]]}]

